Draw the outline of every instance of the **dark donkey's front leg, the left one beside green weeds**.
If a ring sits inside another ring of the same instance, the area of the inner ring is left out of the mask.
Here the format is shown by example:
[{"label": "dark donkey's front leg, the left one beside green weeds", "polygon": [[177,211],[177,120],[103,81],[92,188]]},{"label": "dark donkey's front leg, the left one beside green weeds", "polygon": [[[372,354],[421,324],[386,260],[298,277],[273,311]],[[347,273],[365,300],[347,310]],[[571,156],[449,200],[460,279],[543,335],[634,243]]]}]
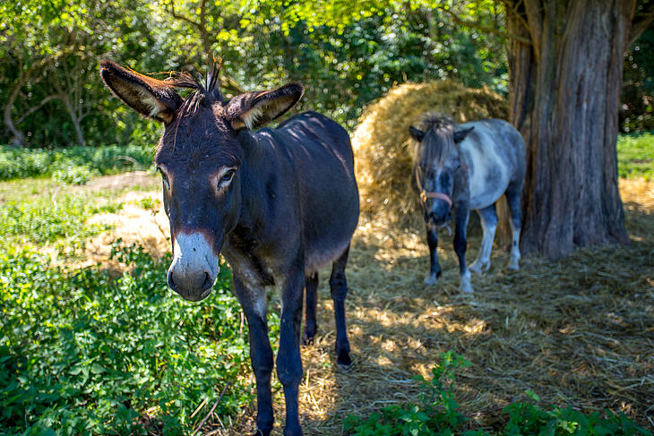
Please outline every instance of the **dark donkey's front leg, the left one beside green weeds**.
[{"label": "dark donkey's front leg, the left one beside green weeds", "polygon": [[234,290],[241,302],[250,330],[250,360],[256,379],[256,428],[255,434],[268,436],[272,430],[272,348],[268,338],[266,321],[265,289],[248,289],[236,276]]}]

